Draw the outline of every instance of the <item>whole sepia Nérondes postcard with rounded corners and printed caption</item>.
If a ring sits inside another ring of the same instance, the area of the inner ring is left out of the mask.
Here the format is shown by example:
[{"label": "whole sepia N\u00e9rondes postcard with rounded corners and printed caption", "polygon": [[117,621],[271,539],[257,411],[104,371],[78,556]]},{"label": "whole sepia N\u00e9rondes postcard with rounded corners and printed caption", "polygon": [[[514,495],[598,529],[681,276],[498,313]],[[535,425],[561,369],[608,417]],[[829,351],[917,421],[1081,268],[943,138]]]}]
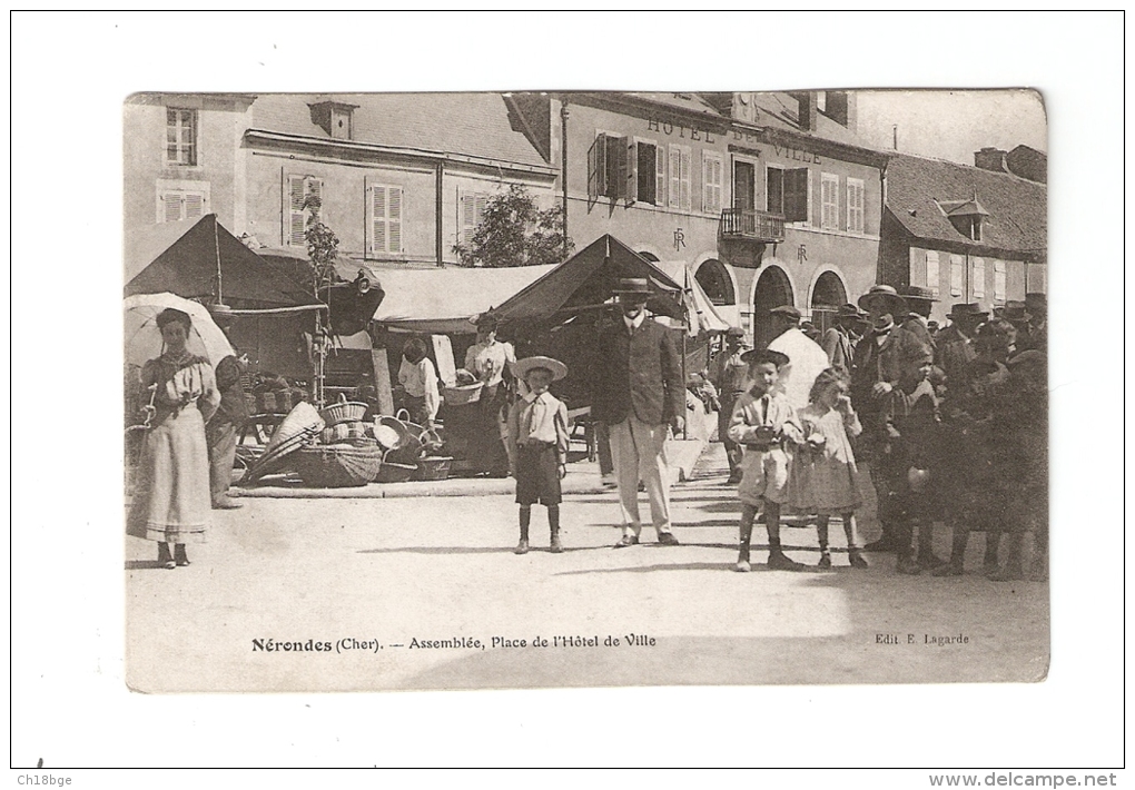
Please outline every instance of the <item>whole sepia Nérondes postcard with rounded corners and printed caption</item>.
[{"label": "whole sepia N\u00e9rondes postcard with rounded corners and printed caption", "polygon": [[1044,680],[1039,92],[123,118],[131,689]]}]

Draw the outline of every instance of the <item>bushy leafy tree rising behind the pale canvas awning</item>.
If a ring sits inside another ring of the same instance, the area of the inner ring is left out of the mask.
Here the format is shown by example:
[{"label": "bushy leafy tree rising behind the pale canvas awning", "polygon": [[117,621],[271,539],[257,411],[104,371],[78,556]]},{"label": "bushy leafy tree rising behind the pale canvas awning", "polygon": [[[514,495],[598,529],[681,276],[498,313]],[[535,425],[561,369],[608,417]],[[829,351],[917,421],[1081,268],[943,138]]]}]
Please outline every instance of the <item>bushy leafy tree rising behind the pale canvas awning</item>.
[{"label": "bushy leafy tree rising behind the pale canvas awning", "polygon": [[574,244],[564,239],[563,209],[540,210],[528,190],[513,184],[493,195],[465,244],[455,244],[461,266],[514,267],[560,263]]}]

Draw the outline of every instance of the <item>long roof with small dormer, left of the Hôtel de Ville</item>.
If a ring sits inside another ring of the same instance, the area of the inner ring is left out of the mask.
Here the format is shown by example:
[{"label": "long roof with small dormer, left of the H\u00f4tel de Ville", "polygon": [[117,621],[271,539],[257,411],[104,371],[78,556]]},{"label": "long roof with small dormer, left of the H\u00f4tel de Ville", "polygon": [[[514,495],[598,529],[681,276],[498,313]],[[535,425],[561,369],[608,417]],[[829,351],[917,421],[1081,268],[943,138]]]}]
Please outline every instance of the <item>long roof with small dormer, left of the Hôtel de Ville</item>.
[{"label": "long roof with small dormer, left of the H\u00f4tel de Ville", "polygon": [[331,140],[310,109],[327,101],[358,106],[351,116],[354,142],[547,166],[510,124],[499,93],[261,94],[249,110],[249,127]]}]

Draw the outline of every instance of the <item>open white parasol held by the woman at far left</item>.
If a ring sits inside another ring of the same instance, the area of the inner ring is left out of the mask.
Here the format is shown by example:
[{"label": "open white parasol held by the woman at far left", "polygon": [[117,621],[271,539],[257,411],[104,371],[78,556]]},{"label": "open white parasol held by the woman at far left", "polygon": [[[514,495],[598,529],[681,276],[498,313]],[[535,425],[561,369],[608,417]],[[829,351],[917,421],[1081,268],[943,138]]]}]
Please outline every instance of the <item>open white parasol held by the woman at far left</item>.
[{"label": "open white parasol held by the woman at far left", "polygon": [[126,362],[145,364],[161,355],[161,331],[158,329],[158,313],[174,308],[188,313],[193,321],[186,347],[191,353],[204,356],[216,365],[222,359],[235,355],[233,345],[225,337],[209,310],[197,302],[174,294],[137,294],[123,300],[124,333],[126,338]]}]

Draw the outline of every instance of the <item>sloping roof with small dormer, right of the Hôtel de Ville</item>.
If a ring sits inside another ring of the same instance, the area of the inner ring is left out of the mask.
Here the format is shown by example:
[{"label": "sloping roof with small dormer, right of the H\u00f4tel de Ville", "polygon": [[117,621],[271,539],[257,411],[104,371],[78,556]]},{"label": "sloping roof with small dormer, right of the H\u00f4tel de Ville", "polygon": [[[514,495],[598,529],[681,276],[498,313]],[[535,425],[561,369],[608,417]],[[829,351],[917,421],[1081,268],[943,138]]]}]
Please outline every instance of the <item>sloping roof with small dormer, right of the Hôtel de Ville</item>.
[{"label": "sloping roof with small dormer, right of the H\u00f4tel de Ville", "polygon": [[[940,208],[951,201],[980,201],[987,212],[982,241],[953,227]],[[886,208],[917,238],[1023,253],[1048,247],[1048,188],[1008,173],[894,154],[886,167]]]}]

